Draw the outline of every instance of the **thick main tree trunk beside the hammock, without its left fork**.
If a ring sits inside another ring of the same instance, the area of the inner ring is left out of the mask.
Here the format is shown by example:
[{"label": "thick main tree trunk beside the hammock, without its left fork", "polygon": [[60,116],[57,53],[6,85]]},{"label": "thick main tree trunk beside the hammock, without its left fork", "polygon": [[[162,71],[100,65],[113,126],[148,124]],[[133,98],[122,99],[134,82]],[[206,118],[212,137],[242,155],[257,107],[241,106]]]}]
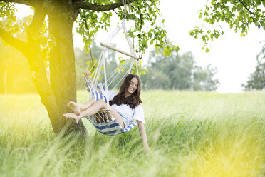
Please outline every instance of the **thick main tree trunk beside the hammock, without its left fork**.
[{"label": "thick main tree trunk beside the hammock, without its left fork", "polygon": [[[57,110],[49,108],[52,112],[50,119],[53,129],[61,131],[66,125],[63,113],[71,110],[66,106],[69,101],[76,102],[76,65],[73,51],[73,22],[76,15],[68,6],[61,7],[48,14],[48,30],[56,41],[50,55],[50,81],[51,89],[56,97]],[[68,131],[76,131],[85,135],[86,130],[82,121],[78,125],[71,123]]]}]

